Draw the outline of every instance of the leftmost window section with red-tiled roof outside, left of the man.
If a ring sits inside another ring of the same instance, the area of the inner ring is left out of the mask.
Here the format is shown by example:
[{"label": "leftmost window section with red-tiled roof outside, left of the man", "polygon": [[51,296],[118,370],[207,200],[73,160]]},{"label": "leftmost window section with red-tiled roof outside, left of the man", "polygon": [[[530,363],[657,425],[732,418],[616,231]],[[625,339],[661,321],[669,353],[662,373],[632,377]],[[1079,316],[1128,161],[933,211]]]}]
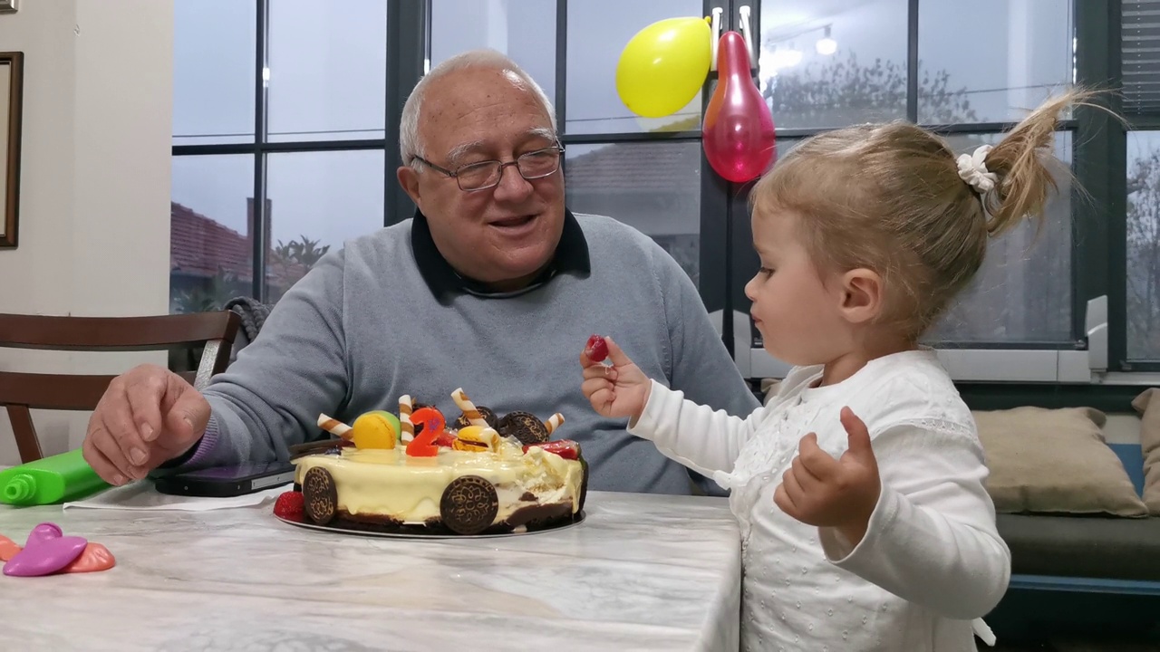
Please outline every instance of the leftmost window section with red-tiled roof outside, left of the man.
[{"label": "leftmost window section with red-tiled roof outside, left of the man", "polygon": [[173,312],[277,300],[384,224],[387,0],[177,0]]}]

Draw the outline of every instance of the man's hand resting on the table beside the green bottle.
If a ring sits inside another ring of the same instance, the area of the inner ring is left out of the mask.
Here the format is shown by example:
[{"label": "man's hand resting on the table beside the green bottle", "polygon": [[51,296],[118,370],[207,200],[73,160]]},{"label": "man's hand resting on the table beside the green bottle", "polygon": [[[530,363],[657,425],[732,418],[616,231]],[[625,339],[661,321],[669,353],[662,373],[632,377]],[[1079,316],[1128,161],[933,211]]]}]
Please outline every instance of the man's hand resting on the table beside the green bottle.
[{"label": "man's hand resting on the table beside the green bottle", "polygon": [[139,480],[189,450],[210,404],[181,376],[153,364],[117,376],[88,420],[85,461],[107,483]]}]

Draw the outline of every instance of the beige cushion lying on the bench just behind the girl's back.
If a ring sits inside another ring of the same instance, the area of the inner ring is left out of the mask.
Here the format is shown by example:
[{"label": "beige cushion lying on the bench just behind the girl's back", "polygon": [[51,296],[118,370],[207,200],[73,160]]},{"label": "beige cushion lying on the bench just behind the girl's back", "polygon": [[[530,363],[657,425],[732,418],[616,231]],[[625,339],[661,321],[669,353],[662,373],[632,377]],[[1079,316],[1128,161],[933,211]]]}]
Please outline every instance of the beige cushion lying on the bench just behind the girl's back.
[{"label": "beige cushion lying on the bench just behind the girl's back", "polygon": [[1016,407],[974,412],[1000,513],[1147,516],[1097,410]]}]

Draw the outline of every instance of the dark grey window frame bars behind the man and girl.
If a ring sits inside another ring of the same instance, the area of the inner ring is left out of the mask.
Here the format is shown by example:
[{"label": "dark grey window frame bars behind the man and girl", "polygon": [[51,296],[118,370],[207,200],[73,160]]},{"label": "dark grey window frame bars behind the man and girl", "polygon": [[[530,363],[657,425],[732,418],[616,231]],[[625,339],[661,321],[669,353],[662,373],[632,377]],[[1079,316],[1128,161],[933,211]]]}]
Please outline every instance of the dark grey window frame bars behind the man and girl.
[{"label": "dark grey window frame bars behind the man and girl", "polygon": [[[385,137],[368,140],[268,142],[266,135],[268,95],[263,71],[268,60],[270,0],[255,0],[256,48],[254,58],[254,142],[241,144],[173,145],[174,157],[245,154],[254,160],[253,296],[267,298],[266,195],[269,154],[383,150],[387,179],[384,183],[384,226],[409,218],[414,204],[391,176],[403,161],[398,148],[399,121],[407,94],[429,68],[430,2],[386,0],[386,115]],[[752,7],[749,22],[761,34],[761,0],[704,0],[703,15],[722,12],[723,30],[740,30],[740,12]],[[654,140],[699,142],[699,130],[680,132],[568,133],[567,110],[567,0],[556,0],[556,103],[561,125],[560,140],[570,144],[645,143]],[[1073,26],[1076,82],[1097,88],[1118,88],[1123,81],[1121,60],[1121,0],[1074,0]],[[915,122],[919,110],[919,10],[920,0],[907,3],[907,118]],[[756,65],[756,60],[754,60]],[[711,72],[702,88],[702,110],[716,84]],[[1118,96],[1110,94],[1109,107],[1119,113]],[[1014,123],[925,125],[942,135],[994,133]],[[1001,343],[971,348],[940,349],[952,377],[963,383],[1044,384],[1155,384],[1160,361],[1126,358],[1126,132],[1160,128],[1160,115],[1133,119],[1126,128],[1107,114],[1081,107],[1061,125],[1072,132],[1072,167],[1078,180],[1073,190],[1072,239],[1072,342]],[[800,138],[824,130],[778,129],[777,137]],[[561,165],[566,166],[564,161]],[[785,365],[752,342],[747,300],[741,294],[741,275],[752,267],[746,207],[746,186],[724,181],[712,172],[702,152],[701,174],[701,282],[706,309],[719,313],[722,338],[746,377],[783,374]],[[724,229],[722,227],[724,225]],[[739,310],[740,309],[740,310]],[[981,386],[981,385],[980,385]]]}]

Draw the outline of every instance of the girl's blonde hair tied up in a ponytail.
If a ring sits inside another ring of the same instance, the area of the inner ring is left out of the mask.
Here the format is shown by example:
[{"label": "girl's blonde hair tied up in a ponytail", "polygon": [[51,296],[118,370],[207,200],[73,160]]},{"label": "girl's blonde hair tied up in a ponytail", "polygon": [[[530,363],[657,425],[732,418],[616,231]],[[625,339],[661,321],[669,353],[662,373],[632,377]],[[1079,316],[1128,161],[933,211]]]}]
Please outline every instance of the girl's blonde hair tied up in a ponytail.
[{"label": "girl's blonde hair tied up in a ponytail", "polygon": [[1051,100],[1008,132],[986,153],[998,182],[981,195],[959,176],[942,138],[899,122],[803,142],[756,183],[749,202],[759,219],[796,216],[819,270],[880,275],[880,321],[918,339],[974,277],[988,237],[1042,217],[1057,190],[1049,165],[1058,164],[1059,114],[1088,95]]}]

